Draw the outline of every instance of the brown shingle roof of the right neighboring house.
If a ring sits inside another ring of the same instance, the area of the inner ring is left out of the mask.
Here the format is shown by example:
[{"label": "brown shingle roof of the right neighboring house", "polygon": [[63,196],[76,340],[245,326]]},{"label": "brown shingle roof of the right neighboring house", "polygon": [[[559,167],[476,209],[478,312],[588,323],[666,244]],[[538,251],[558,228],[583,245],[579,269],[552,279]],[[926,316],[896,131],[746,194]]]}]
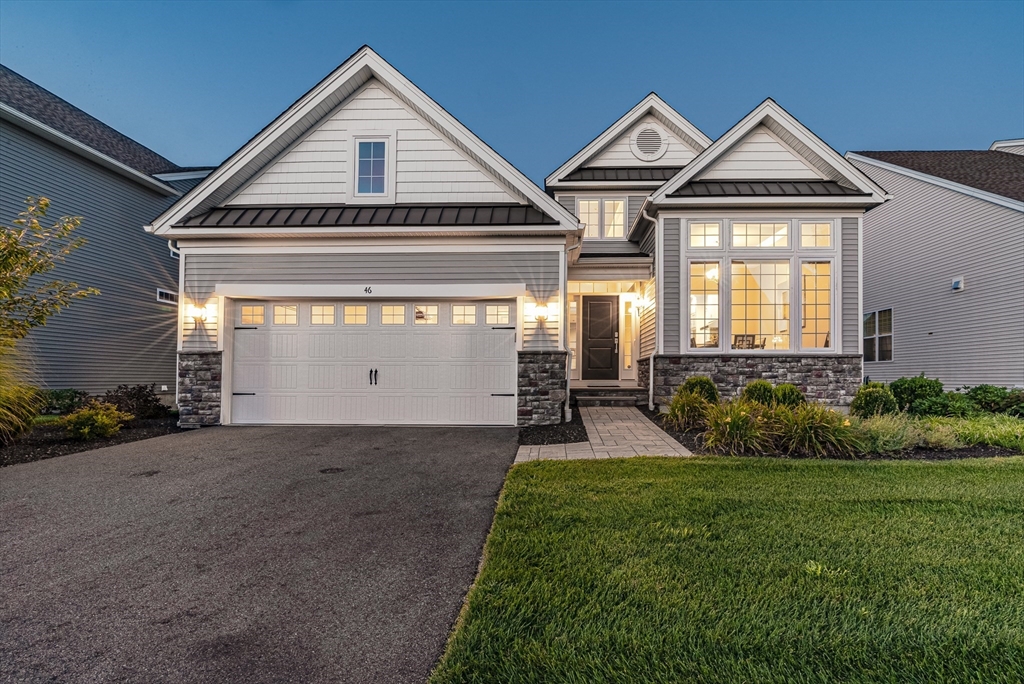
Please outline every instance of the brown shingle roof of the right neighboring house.
[{"label": "brown shingle roof of the right neighboring house", "polygon": [[1024,202],[1024,155],[997,149],[858,152],[880,162]]}]

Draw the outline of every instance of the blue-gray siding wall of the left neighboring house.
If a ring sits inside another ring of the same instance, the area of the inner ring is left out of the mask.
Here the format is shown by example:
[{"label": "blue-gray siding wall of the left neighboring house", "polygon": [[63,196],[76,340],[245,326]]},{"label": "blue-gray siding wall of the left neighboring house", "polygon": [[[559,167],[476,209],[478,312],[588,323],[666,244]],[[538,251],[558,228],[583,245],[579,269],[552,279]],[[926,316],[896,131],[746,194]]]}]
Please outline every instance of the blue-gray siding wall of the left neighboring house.
[{"label": "blue-gray siding wall of the left neighboring house", "polygon": [[177,309],[157,301],[157,288],[178,291],[178,261],[166,240],[142,226],[174,198],[2,122],[0,215],[5,224],[25,209],[30,195],[52,201],[49,219],[83,217],[76,234],[87,244],[45,279],[101,292],[75,301],[30,334],[27,343],[40,383],[91,393],[119,384],[156,383],[158,391],[162,385],[173,391]]}]

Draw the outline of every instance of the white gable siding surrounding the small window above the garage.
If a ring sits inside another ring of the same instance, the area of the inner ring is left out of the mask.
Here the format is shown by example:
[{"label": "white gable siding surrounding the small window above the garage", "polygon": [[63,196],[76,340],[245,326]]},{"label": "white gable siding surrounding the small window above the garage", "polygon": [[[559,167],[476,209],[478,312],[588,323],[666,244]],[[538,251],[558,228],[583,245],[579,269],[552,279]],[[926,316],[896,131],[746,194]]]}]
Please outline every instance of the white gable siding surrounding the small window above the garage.
[{"label": "white gable siding surrounding the small window above the garage", "polygon": [[466,156],[373,81],[257,175],[228,205],[342,204],[354,154],[351,131],[394,130],[395,201],[517,202]]}]

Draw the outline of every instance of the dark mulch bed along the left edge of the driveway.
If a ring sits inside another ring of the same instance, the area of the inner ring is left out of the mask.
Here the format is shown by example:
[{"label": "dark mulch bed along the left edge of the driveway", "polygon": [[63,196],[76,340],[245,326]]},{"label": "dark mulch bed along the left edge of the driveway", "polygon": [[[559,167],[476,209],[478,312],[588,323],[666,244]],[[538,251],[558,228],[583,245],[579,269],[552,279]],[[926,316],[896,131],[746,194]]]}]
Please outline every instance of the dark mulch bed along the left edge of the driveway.
[{"label": "dark mulch bed along the left edge of the driveway", "polygon": [[150,437],[159,437],[182,431],[178,427],[178,417],[168,416],[166,418],[132,421],[128,426],[121,428],[113,437],[80,441],[70,438],[63,428],[56,422],[43,423],[36,425],[28,434],[18,437],[17,441],[13,444],[0,446],[0,468],[3,466],[12,466],[16,463],[32,463],[33,461],[52,459],[55,456],[89,452],[94,448],[102,448],[103,446],[124,444],[129,441],[138,441],[139,439],[148,439]]}]

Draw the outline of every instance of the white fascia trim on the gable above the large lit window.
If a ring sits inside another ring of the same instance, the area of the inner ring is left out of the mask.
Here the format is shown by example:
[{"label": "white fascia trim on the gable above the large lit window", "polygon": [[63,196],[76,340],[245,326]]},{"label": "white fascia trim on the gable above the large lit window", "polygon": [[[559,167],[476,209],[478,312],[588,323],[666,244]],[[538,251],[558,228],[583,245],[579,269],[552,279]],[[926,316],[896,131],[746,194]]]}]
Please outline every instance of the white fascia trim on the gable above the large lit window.
[{"label": "white fascia trim on the gable above the large lit window", "polygon": [[[761,125],[766,119],[773,119],[783,126],[794,137],[799,139],[815,154],[829,163],[837,171],[841,172],[858,189],[868,193],[873,202],[872,205],[881,204],[888,199],[886,191],[871,180],[867,174],[843,159],[843,156],[829,147],[821,138],[807,129],[802,123],[797,121],[788,112],[783,110],[775,100],[770,97],[756,106],[753,112],[743,117],[739,123],[725,132],[722,137],[716,140],[710,147],[705,149],[693,161],[686,165],[676,176],[652,196],[654,204],[662,204],[669,195],[676,191],[690,180],[695,178],[701,171],[710,168],[715,162],[721,159],[737,142],[743,139],[748,133]],[[678,198],[673,198],[676,200]]]}]

